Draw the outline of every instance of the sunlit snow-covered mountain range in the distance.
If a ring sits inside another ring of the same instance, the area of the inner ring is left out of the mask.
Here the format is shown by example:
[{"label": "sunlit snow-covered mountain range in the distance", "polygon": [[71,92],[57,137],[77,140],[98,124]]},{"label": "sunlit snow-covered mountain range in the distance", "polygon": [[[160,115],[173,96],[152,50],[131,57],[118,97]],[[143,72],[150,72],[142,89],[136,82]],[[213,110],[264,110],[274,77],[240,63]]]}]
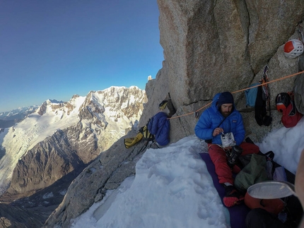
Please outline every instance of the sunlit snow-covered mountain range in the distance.
[{"label": "sunlit snow-covered mountain range in the distance", "polygon": [[[112,87],[102,91],[90,91],[86,97],[74,95],[69,102],[43,102],[36,112],[0,133],[0,150],[4,152],[4,156],[0,157],[0,194],[10,184],[18,160],[23,160],[29,151],[35,154],[36,150],[41,152],[40,150],[49,146],[53,149],[47,152],[57,150],[55,146],[48,145],[49,143],[37,146],[38,143],[43,143],[62,132],[64,136],[60,137],[65,137],[66,142],[69,141],[66,146],[73,145],[67,150],[78,151],[80,160],[87,163],[131,129],[141,116],[144,102],[145,92],[136,87]],[[54,140],[62,140],[58,137]],[[89,144],[90,146],[82,151],[81,148]],[[90,150],[94,152],[89,152]],[[83,152],[85,154],[81,155]],[[18,179],[18,176],[16,178]],[[52,181],[49,181],[49,184],[52,184]]]}]

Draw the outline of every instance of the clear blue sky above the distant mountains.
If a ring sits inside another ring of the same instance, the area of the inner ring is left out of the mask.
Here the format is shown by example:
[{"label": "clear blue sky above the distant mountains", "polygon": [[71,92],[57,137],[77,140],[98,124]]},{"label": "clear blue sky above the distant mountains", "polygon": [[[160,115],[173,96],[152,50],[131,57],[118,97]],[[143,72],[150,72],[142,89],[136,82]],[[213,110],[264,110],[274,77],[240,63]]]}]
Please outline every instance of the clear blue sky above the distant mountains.
[{"label": "clear blue sky above the distant mountains", "polygon": [[162,67],[158,16],[156,0],[0,1],[0,112],[144,89]]}]

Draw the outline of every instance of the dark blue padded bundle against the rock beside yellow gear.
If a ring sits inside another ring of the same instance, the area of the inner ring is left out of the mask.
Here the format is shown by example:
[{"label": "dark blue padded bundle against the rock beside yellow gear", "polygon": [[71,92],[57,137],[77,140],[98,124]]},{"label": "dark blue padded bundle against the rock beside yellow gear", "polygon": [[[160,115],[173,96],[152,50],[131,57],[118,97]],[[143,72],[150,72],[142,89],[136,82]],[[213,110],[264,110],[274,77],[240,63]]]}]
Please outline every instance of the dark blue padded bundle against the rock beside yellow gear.
[{"label": "dark blue padded bundle against the rock beside yellow gear", "polygon": [[170,142],[170,121],[165,112],[158,112],[148,123],[148,130],[155,136],[156,143],[167,145]]}]

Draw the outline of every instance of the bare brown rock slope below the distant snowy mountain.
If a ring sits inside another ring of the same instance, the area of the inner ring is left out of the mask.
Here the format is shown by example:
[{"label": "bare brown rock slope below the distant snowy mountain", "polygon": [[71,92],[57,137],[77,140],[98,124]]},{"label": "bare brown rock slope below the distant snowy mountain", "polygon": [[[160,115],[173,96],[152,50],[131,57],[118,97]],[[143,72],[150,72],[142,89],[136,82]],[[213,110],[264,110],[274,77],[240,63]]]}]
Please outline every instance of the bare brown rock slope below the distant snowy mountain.
[{"label": "bare brown rock slope below the distant snowy mountain", "polygon": [[7,193],[27,196],[54,184],[70,172],[78,170],[79,174],[89,157],[95,158],[100,152],[94,137],[86,140],[86,143],[91,150],[76,150],[65,131],[57,131],[52,137],[38,143],[22,160],[18,160]]}]

